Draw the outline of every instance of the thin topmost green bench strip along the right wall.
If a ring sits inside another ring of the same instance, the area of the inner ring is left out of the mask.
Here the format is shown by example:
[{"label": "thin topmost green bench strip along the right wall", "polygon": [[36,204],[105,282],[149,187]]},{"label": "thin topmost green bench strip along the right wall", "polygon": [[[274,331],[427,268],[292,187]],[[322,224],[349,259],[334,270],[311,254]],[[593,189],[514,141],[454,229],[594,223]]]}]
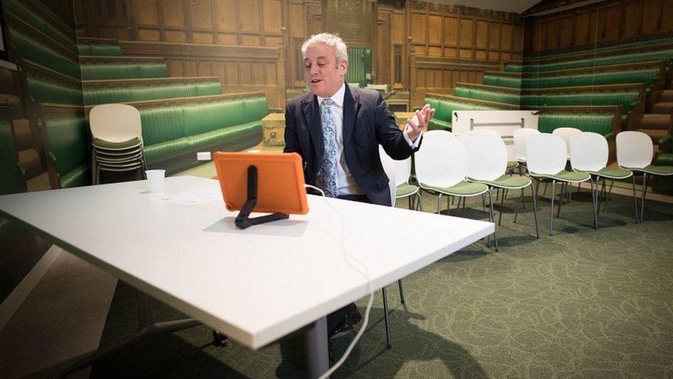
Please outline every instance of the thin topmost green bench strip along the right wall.
[{"label": "thin topmost green bench strip along the right wall", "polygon": [[507,64],[507,72],[544,72],[552,70],[567,70],[570,68],[585,68],[594,66],[605,66],[610,64],[630,64],[645,61],[666,61],[670,65],[673,58],[673,49],[659,50],[651,52],[638,52],[634,54],[609,55],[607,57],[596,57],[590,59],[578,59],[576,61],[559,61],[549,64]]}]

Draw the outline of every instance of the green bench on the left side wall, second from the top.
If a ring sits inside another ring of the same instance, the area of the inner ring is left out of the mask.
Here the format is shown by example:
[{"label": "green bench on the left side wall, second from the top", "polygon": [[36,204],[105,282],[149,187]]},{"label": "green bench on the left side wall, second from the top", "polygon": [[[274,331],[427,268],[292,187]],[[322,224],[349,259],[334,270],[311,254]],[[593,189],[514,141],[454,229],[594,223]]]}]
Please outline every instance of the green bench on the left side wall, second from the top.
[{"label": "green bench on the left side wall, second from the top", "polygon": [[66,57],[49,46],[44,46],[39,41],[28,37],[23,32],[10,28],[14,51],[23,59],[30,59],[37,64],[61,72],[74,79],[79,79],[79,64],[77,61]]}]

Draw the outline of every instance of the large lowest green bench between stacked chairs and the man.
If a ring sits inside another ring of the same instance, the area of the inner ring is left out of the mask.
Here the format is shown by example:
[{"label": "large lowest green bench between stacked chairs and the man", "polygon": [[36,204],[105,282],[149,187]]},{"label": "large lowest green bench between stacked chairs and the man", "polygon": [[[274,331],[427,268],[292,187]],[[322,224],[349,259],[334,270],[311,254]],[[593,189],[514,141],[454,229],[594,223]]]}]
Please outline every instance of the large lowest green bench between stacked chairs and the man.
[{"label": "large lowest green bench between stacked chairs and the man", "polygon": [[197,164],[197,151],[241,150],[261,142],[262,119],[269,113],[263,93],[188,101],[168,106],[129,103],[140,110],[150,168],[177,172]]}]

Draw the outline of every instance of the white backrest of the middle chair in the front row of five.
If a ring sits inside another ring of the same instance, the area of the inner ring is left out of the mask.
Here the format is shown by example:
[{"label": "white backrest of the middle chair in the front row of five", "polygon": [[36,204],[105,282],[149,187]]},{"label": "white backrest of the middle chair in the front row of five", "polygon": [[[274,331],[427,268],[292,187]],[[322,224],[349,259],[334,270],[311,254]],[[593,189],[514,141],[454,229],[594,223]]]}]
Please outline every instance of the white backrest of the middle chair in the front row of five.
[{"label": "white backrest of the middle chair in the front row of five", "polygon": [[534,174],[555,175],[565,168],[567,152],[563,138],[549,133],[526,138],[526,166]]}]

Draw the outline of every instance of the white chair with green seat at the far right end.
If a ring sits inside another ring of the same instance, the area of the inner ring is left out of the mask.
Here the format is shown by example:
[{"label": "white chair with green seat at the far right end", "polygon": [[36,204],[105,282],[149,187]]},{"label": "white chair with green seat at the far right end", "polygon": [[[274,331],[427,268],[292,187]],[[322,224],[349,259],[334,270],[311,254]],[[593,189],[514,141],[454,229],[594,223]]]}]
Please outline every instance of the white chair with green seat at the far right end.
[{"label": "white chair with green seat at the far right end", "polygon": [[[640,222],[643,222],[645,211],[645,195],[647,195],[647,174],[670,176],[673,166],[654,166],[654,146],[650,136],[642,132],[625,131],[617,133],[617,164],[620,168],[634,173],[643,173],[643,191],[641,198]],[[637,215],[636,215],[637,218]]]}]

